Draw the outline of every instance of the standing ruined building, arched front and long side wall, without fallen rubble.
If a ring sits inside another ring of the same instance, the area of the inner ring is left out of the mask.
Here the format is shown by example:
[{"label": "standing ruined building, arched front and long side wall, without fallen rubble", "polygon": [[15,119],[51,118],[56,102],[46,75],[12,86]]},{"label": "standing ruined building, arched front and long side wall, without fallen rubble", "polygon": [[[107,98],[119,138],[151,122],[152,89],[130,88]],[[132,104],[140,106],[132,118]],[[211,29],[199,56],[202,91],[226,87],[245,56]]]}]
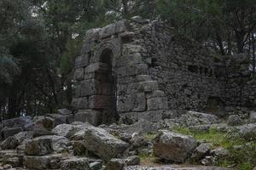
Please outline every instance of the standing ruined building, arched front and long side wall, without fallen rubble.
[{"label": "standing ruined building, arched front and long side wall, without fallen rubble", "polygon": [[216,101],[253,106],[247,64],[232,59],[216,62],[200,44],[159,21],[134,18],[92,29],[75,64],[75,120],[158,122],[168,110],[202,111]]}]

